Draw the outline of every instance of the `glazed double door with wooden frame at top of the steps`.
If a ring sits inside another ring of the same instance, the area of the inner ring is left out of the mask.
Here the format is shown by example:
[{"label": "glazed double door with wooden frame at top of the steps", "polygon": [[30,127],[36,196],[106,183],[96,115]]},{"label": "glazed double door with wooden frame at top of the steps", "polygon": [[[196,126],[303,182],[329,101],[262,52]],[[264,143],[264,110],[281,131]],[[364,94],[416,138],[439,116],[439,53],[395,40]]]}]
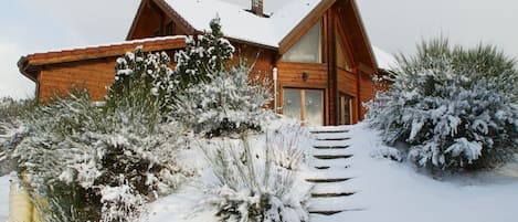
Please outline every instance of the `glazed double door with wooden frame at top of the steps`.
[{"label": "glazed double door with wooden frame at top of the steps", "polygon": [[283,114],[299,119],[303,126],[323,126],[324,91],[284,88]]}]

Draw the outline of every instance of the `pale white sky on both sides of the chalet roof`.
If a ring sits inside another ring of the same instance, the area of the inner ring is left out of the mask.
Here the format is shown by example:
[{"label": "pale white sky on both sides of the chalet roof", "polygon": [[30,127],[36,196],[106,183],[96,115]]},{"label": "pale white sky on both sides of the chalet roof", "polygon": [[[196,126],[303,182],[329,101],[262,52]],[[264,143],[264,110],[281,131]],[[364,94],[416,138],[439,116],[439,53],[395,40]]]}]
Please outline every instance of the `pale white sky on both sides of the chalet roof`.
[{"label": "pale white sky on both sides of the chalet roof", "polygon": [[[17,61],[21,55],[124,40],[139,2],[2,2],[0,96],[22,98],[34,94],[34,85],[18,71]],[[491,43],[509,55],[518,55],[518,29],[515,29],[518,1],[357,0],[357,3],[371,43],[389,53],[413,53],[421,40],[442,34],[453,43]]]}]

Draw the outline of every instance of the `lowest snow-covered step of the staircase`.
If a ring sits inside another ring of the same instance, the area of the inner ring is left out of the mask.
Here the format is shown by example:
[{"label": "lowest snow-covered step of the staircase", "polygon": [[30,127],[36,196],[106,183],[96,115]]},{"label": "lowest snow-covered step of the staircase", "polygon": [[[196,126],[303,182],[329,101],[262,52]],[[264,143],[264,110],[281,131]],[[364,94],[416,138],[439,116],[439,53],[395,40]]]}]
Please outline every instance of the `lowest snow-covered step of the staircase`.
[{"label": "lowest snow-covered step of the staircase", "polygon": [[357,211],[367,209],[359,195],[311,198],[308,201],[309,213],[327,214],[330,212]]}]

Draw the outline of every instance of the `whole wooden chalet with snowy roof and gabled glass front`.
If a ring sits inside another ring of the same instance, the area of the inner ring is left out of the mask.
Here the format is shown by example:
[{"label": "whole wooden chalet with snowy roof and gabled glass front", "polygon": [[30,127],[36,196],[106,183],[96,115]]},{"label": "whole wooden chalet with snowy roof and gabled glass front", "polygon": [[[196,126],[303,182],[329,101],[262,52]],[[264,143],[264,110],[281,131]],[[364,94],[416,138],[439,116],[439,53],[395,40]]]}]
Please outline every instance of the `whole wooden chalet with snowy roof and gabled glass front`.
[{"label": "whole wooden chalet with snowy roof and gabled glass front", "polygon": [[273,80],[278,113],[305,125],[363,118],[379,68],[355,0],[141,0],[125,42],[30,54],[19,67],[39,99],[83,85],[101,101],[118,56],[137,45],[172,55],[215,17],[234,57],[260,53],[253,73]]}]

